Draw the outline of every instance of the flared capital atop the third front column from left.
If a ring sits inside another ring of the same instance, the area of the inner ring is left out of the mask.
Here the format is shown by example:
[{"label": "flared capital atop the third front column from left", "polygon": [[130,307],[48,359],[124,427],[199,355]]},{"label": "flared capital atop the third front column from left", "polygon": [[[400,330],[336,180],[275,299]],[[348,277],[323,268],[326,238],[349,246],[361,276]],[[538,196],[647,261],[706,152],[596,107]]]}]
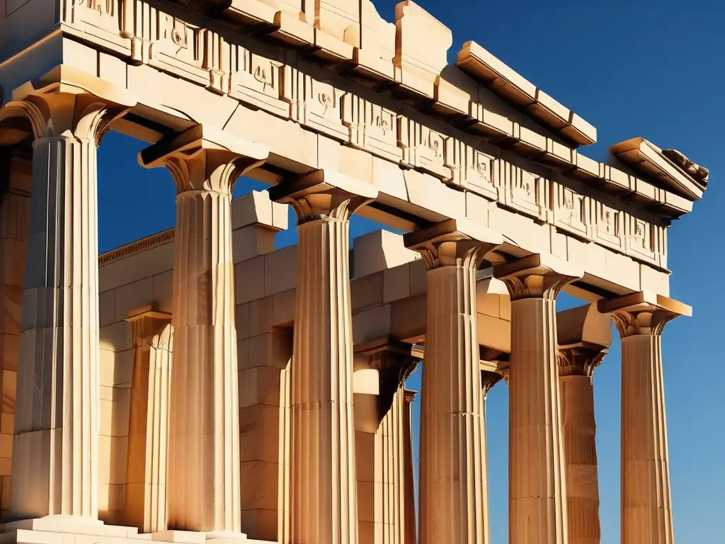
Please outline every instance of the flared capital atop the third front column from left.
[{"label": "flared capital atop the third front column from left", "polygon": [[334,170],[315,170],[270,189],[270,199],[291,205],[300,225],[318,219],[348,221],[377,197],[372,185]]}]

